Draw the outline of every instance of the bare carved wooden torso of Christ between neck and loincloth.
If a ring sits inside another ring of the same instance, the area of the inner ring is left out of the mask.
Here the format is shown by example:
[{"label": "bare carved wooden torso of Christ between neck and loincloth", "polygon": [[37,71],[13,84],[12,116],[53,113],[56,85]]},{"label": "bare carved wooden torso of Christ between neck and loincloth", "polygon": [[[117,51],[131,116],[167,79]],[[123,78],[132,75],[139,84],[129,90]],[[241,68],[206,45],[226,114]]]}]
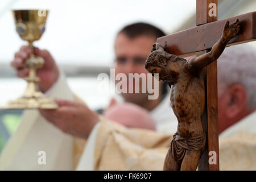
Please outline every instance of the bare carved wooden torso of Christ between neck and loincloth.
[{"label": "bare carved wooden torso of Christ between neck and loincloth", "polygon": [[177,134],[190,138],[203,133],[201,117],[205,107],[203,74],[181,72],[171,86],[171,106],[178,120]]}]

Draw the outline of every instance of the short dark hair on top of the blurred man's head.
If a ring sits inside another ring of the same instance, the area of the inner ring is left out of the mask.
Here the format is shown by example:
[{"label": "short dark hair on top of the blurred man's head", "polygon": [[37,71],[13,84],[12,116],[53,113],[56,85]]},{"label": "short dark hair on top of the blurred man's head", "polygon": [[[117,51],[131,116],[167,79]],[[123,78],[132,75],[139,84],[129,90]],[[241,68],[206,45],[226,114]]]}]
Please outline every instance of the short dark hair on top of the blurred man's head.
[{"label": "short dark hair on top of the blurred man's head", "polygon": [[143,23],[143,22],[129,24],[123,27],[122,30],[118,32],[118,34],[121,34],[121,33],[126,34],[131,39],[137,38],[137,36],[141,36],[141,35],[154,36],[155,38],[159,38],[161,36],[166,35],[162,30],[153,26],[152,24]]}]

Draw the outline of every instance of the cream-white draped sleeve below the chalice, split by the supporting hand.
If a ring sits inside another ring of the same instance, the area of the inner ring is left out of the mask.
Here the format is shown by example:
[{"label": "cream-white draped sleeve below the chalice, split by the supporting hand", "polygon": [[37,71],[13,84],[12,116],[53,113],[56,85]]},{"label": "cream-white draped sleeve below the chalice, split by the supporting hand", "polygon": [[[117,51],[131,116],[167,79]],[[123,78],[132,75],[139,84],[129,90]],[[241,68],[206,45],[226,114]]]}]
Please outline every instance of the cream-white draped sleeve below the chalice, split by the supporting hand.
[{"label": "cream-white draped sleeve below the chalice, split by the supporting hand", "polygon": [[[74,100],[64,74],[60,75],[47,96]],[[43,159],[40,158],[44,154],[46,164],[42,164]],[[73,168],[72,156],[71,135],[62,133],[47,122],[38,110],[24,110],[18,129],[1,152],[0,170],[69,170]]]}]

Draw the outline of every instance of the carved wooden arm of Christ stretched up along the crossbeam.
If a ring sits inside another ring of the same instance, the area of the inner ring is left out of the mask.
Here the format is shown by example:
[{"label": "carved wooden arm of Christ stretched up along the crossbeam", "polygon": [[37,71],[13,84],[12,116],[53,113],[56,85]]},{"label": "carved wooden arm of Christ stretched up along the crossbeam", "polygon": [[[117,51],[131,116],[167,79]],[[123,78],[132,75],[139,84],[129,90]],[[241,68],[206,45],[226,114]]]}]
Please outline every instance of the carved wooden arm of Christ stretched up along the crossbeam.
[{"label": "carved wooden arm of Christ stretched up along the crossbeam", "polygon": [[224,51],[226,44],[229,40],[237,36],[240,32],[240,23],[237,19],[235,23],[229,26],[229,21],[226,22],[223,34],[217,43],[214,44],[210,52],[204,55],[193,57],[188,61],[189,71],[199,71],[203,69],[208,64],[212,63],[220,57],[221,53]]}]

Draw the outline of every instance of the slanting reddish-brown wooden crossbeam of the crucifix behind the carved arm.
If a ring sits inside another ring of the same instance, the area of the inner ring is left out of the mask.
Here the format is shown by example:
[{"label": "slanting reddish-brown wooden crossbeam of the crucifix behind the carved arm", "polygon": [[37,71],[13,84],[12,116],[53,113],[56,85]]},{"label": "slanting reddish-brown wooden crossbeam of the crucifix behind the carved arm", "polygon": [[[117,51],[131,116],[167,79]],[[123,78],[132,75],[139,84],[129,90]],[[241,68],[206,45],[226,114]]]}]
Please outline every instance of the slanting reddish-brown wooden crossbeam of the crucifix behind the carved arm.
[{"label": "slanting reddish-brown wooden crossbeam of the crucifix behind the carved arm", "polygon": [[229,20],[231,24],[236,19],[239,19],[241,23],[241,33],[230,40],[228,46],[256,40],[256,12],[254,11],[163,36],[158,38],[157,42],[162,46],[167,45],[164,49],[169,53],[188,56],[212,48],[220,39],[226,21]]}]

